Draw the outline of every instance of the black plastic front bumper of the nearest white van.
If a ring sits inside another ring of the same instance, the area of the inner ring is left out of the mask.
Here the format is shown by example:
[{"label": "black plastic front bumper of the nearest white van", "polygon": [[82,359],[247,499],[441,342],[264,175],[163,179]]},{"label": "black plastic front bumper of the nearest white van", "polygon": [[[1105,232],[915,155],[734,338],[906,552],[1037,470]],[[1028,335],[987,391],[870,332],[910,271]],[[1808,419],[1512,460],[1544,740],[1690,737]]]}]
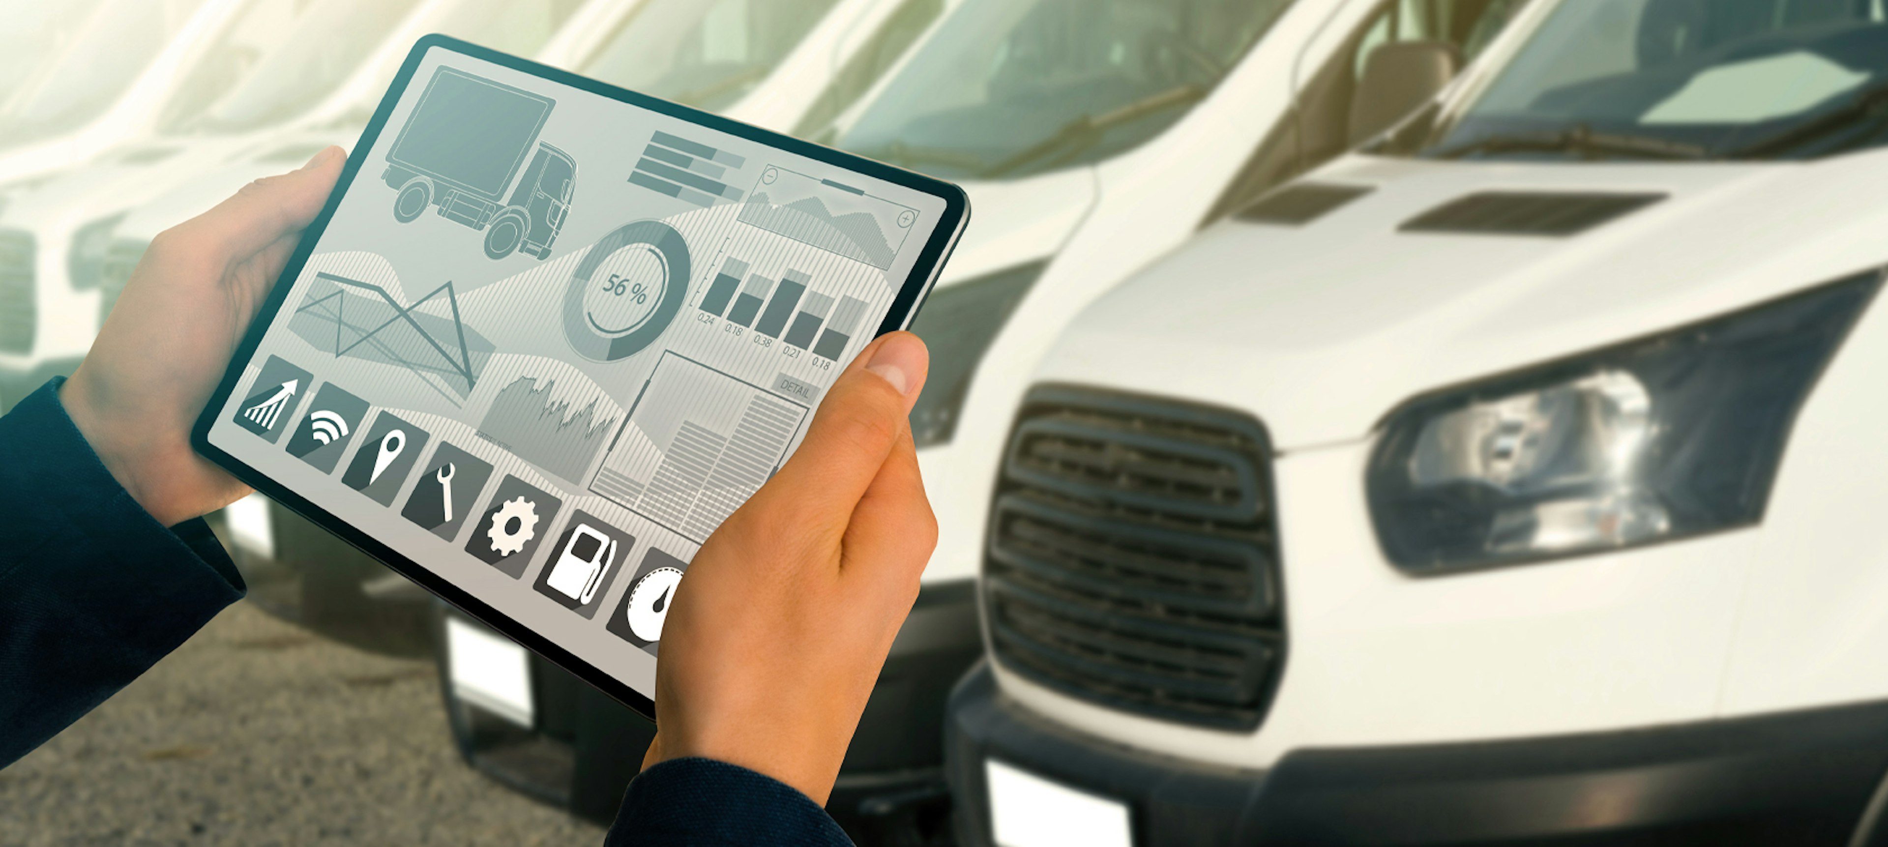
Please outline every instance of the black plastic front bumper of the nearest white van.
[{"label": "black plastic front bumper of the nearest white van", "polygon": [[978,664],[946,719],[963,847],[991,845],[989,758],[1125,802],[1137,847],[1888,843],[1877,830],[1888,804],[1888,702],[1580,736],[1301,749],[1271,770],[1233,770],[1076,734],[1004,698]]}]

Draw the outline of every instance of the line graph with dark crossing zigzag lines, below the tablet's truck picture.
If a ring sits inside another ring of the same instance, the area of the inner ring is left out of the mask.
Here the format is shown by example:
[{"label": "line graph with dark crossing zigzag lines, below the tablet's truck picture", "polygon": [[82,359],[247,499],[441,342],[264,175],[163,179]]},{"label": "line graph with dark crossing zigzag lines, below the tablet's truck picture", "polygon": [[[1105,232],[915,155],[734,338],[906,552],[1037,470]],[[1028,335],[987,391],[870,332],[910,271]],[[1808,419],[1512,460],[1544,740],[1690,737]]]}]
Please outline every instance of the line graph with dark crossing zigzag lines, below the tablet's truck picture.
[{"label": "line graph with dark crossing zigzag lines, below the tablet's truck picture", "polygon": [[[447,315],[419,311],[442,296]],[[451,281],[412,306],[400,306],[379,285],[321,272],[289,317],[289,330],[334,357],[391,364],[436,379],[461,398],[478,385],[497,349],[461,321]]]}]

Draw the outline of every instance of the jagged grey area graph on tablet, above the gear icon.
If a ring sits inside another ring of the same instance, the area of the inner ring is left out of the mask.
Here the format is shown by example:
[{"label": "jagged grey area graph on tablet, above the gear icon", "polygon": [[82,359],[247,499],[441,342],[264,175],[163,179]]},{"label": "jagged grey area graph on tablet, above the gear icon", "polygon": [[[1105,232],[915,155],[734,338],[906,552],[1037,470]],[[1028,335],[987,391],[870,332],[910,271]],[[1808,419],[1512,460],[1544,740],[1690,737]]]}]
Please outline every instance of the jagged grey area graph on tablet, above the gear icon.
[{"label": "jagged grey area graph on tablet, above the gear icon", "polygon": [[576,402],[557,400],[555,379],[538,383],[538,377],[521,375],[506,385],[478,432],[538,468],[578,481],[615,432],[619,417],[614,409],[608,417],[598,415],[597,398],[572,411]]}]

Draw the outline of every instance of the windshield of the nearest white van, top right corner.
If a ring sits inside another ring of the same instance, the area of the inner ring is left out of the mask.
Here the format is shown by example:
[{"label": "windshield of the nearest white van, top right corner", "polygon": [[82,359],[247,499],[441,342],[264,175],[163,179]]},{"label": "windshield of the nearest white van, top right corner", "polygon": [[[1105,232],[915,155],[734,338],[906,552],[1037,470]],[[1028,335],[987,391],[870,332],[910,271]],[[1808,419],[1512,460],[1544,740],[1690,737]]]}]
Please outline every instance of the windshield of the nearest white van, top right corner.
[{"label": "windshield of the nearest white van, top right corner", "polygon": [[1882,0],[1563,0],[1439,158],[1811,158],[1888,140]]}]

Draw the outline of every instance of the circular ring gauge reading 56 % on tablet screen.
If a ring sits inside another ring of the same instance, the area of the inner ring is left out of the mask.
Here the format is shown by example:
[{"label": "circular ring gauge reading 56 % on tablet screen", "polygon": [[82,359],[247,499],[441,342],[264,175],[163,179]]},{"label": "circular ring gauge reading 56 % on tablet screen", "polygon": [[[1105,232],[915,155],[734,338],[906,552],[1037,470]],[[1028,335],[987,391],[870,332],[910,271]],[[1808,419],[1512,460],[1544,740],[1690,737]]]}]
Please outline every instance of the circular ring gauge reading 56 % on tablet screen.
[{"label": "circular ring gauge reading 56 % on tablet screen", "polygon": [[583,358],[615,362],[642,353],[682,311],[689,245],[661,221],[602,236],[565,292],[565,338]]}]

